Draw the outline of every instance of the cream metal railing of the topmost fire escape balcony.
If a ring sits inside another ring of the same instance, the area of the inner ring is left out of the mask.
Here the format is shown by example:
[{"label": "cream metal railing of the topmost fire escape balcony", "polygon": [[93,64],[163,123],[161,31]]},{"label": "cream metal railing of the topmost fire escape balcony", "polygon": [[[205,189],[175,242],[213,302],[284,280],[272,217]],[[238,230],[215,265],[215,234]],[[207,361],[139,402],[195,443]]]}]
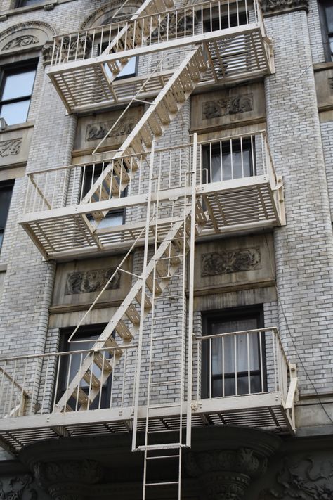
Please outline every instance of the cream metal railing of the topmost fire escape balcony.
[{"label": "cream metal railing of the topmost fire escape balcony", "polygon": [[[259,24],[263,30],[258,0],[206,1],[57,36],[54,38],[51,66],[107,56],[108,53],[122,53],[143,45],[194,37],[249,23]],[[118,41],[109,49],[114,39]]]}]

